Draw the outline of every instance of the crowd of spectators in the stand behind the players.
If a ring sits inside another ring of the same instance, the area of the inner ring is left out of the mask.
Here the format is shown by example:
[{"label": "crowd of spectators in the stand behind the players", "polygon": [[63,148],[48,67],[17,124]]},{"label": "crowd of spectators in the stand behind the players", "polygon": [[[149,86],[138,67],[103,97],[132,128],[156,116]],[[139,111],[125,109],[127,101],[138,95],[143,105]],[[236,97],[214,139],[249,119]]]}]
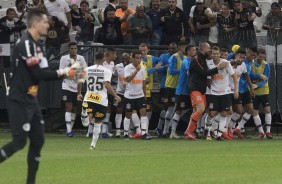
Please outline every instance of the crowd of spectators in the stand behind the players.
[{"label": "crowd of spectators in the stand behind the players", "polygon": [[[253,22],[262,15],[257,1],[224,1],[183,0],[183,7],[180,8],[176,6],[177,0],[168,0],[167,7],[162,9],[161,0],[151,0],[150,7],[137,5],[133,10],[128,7],[128,0],[109,0],[104,11],[99,9],[98,16],[95,16],[85,0],[71,6],[65,0],[32,0],[32,3],[16,0],[16,8],[9,8],[0,20],[0,43],[14,44],[26,29],[29,9],[41,8],[50,15],[45,42],[48,59],[60,53],[61,44],[70,41],[69,32],[72,30],[76,31],[76,41],[85,45],[91,42],[105,45],[169,45],[182,40],[196,46],[208,41],[212,46],[219,45],[229,51],[234,44],[244,48],[257,47]],[[279,5],[282,7],[282,0],[279,0]],[[271,18],[273,16],[277,19]],[[281,27],[279,17],[281,11],[278,15],[270,11],[264,24],[274,24],[275,21],[275,26]],[[95,26],[97,29],[94,29]],[[267,37],[270,38],[270,34]],[[271,38],[267,40],[267,43],[270,42],[273,42]]]}]

